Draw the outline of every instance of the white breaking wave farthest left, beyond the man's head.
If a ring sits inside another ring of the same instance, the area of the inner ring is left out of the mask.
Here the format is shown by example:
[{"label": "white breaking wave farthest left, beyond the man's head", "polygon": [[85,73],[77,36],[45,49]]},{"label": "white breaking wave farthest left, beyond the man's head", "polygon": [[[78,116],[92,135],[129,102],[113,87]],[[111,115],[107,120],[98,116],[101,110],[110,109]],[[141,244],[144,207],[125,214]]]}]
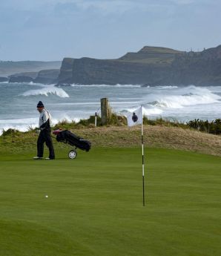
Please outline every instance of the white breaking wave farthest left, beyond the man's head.
[{"label": "white breaking wave farthest left, beyond the man's head", "polygon": [[46,86],[42,86],[39,89],[25,91],[21,95],[22,96],[37,96],[37,95],[48,96],[49,94],[54,94],[61,98],[69,98],[69,95],[62,88],[57,88],[54,85],[46,85]]}]

